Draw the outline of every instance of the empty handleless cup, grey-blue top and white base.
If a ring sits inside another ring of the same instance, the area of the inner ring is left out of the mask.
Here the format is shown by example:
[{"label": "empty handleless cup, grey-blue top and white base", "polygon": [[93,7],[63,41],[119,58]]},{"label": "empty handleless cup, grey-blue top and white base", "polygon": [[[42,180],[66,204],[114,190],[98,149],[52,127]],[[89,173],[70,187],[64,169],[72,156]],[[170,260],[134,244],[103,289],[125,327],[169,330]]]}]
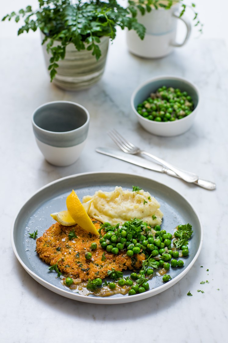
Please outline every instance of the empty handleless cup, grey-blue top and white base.
[{"label": "empty handleless cup, grey-blue top and white base", "polygon": [[39,106],[32,114],[32,127],[45,159],[55,166],[76,162],[86,142],[89,121],[88,110],[70,101]]}]

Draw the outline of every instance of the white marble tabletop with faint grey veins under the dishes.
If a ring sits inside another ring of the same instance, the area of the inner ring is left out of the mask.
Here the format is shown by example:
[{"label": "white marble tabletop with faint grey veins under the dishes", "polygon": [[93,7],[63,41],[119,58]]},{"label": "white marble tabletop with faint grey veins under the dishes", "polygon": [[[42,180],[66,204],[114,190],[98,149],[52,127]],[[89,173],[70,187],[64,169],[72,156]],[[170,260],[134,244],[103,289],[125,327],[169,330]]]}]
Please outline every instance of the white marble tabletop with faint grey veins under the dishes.
[{"label": "white marble tabletop with faint grey veins under the dishes", "polygon": [[[110,45],[102,80],[81,92],[64,92],[49,83],[39,39],[0,40],[1,94],[1,342],[225,342],[227,338],[227,51],[220,40],[192,40],[160,60],[130,55],[125,35]],[[196,83],[201,104],[192,128],[162,138],[139,126],[131,112],[134,88],[161,74]],[[70,100],[91,115],[88,142],[69,167],[47,163],[36,146],[31,114],[39,105]],[[149,171],[95,152],[115,147],[106,134],[116,128],[154,155],[216,182],[215,191]],[[200,256],[188,274],[157,296],[123,305],[92,305],[59,296],[33,280],[17,261],[10,242],[11,223],[25,201],[58,178],[89,171],[144,175],[180,192],[198,212],[204,229]],[[201,268],[203,266],[203,268]],[[206,269],[209,269],[207,272]],[[201,285],[201,281],[209,283]],[[202,289],[205,293],[198,293]],[[219,289],[219,290],[218,290]],[[188,291],[193,296],[187,296]],[[42,336],[42,337],[41,337]]]}]

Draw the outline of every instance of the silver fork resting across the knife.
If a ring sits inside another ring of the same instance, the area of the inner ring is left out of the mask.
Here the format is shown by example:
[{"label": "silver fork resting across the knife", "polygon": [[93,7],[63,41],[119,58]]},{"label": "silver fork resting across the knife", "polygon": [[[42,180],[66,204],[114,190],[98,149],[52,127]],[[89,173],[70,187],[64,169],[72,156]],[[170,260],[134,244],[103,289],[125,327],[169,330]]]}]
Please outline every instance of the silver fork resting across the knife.
[{"label": "silver fork resting across the knife", "polygon": [[112,129],[107,132],[109,137],[115,142],[119,148],[124,151],[127,154],[133,154],[133,155],[146,155],[154,159],[156,162],[160,163],[163,167],[169,168],[170,170],[174,171],[180,178],[185,180],[186,182],[193,183],[199,179],[199,177],[196,174],[190,173],[189,171],[179,169],[172,164],[164,161],[163,159],[156,157],[144,150],[141,150],[139,147],[135,146],[131,142],[129,142],[127,139],[122,137],[119,132],[117,132],[115,129]]}]

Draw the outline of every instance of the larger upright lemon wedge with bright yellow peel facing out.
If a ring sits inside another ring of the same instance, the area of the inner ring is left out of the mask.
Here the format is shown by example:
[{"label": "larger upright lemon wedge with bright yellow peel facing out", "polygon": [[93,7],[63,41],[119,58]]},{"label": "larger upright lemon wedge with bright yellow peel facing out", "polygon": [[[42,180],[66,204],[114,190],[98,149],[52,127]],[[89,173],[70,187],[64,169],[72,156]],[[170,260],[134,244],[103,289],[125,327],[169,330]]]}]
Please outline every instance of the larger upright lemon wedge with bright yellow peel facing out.
[{"label": "larger upright lemon wedge with bright yellow peel facing out", "polygon": [[79,226],[81,226],[81,228],[95,235],[99,235],[99,232],[93,225],[90,217],[86,213],[84,206],[74,190],[72,190],[72,192],[68,195],[66,204],[69,215]]}]

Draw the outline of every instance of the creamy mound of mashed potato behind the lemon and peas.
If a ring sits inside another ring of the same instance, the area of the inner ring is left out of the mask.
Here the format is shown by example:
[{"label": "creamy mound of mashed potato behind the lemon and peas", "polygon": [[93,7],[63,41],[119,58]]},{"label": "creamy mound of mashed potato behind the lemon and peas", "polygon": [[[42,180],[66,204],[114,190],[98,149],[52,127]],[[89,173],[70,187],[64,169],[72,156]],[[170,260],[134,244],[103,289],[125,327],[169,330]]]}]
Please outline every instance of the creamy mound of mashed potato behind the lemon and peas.
[{"label": "creamy mound of mashed potato behind the lemon and peas", "polygon": [[154,227],[162,222],[159,202],[144,190],[129,191],[116,187],[112,192],[96,191],[85,196],[82,204],[89,216],[111,225],[137,218]]}]

